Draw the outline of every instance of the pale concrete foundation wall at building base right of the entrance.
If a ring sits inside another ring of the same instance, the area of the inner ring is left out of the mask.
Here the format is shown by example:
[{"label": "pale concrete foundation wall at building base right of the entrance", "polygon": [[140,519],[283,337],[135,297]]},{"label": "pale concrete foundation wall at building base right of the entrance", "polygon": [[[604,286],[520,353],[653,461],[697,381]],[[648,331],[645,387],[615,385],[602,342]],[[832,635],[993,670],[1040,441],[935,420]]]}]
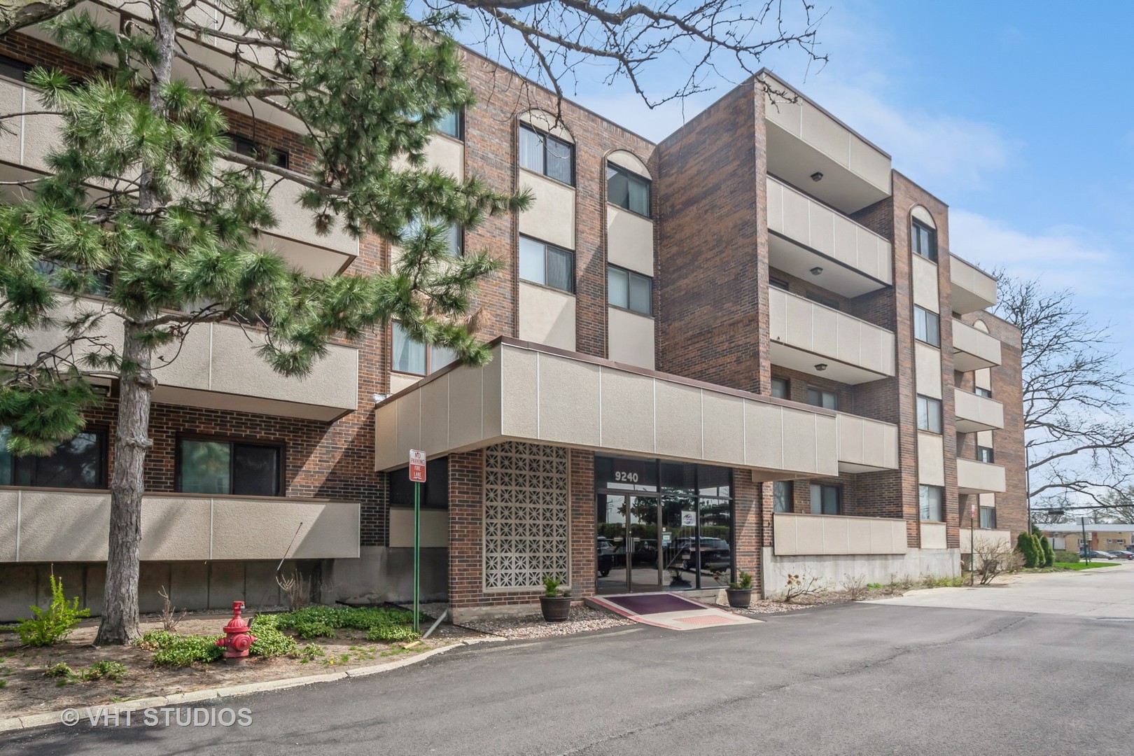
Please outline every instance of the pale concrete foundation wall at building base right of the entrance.
[{"label": "pale concrete foundation wall at building base right of the entrance", "polygon": [[920,577],[959,577],[959,549],[911,549],[905,554],[776,557],[764,547],[763,592],[765,597],[784,593],[787,576],[818,577],[824,588],[841,589],[841,583],[864,577],[866,583],[887,584],[891,580]]}]

